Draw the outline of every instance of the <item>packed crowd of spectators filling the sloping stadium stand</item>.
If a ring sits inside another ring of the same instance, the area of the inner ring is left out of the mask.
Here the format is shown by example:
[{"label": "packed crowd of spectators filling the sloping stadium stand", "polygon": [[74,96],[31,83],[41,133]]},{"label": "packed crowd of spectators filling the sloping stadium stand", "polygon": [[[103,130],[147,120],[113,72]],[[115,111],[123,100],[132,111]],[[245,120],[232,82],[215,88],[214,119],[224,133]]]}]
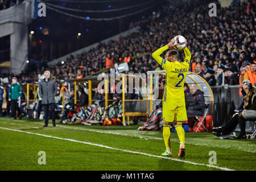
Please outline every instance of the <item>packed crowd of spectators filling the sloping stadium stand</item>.
[{"label": "packed crowd of spectators filling the sloping stadium stand", "polygon": [[[229,7],[220,7],[216,1],[216,17],[208,15],[207,3],[181,1],[176,5],[179,9],[174,5],[164,6],[147,18],[132,22],[130,28],[140,26],[138,32],[108,44],[99,43],[97,48],[76,57],[71,55],[65,64],[58,63],[48,69],[57,82],[86,77],[121,61],[129,64],[130,71],[126,73],[159,70],[160,65],[152,59],[151,53],[173,36],[184,35],[192,53],[190,71],[203,76],[209,85],[221,85],[222,72],[225,72],[225,84],[237,85],[246,79],[255,84],[256,1],[233,1]],[[144,53],[148,54],[133,59]],[[16,77],[21,83],[36,82],[40,70],[24,71]]]}]

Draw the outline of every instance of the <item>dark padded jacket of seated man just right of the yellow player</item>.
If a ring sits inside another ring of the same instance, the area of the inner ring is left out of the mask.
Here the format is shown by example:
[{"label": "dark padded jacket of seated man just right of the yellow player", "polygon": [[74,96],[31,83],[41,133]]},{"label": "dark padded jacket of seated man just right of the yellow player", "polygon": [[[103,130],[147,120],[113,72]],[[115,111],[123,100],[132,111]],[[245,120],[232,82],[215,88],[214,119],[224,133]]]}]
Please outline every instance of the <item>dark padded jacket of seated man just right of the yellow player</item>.
[{"label": "dark padded jacket of seated man just right of the yellow player", "polygon": [[188,110],[199,110],[204,113],[205,100],[204,92],[201,90],[196,90],[196,93],[192,95],[192,99],[189,101]]}]

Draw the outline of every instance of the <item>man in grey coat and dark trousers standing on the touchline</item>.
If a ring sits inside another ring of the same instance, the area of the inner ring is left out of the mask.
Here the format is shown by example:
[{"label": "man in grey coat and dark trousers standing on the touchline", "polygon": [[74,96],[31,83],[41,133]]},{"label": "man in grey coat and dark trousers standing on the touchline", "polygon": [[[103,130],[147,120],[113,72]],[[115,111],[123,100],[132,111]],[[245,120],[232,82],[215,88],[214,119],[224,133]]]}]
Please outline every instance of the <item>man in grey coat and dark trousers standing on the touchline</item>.
[{"label": "man in grey coat and dark trousers standing on the touchline", "polygon": [[[44,72],[44,79],[39,82],[39,95],[42,98],[42,105],[44,108],[44,126],[48,126],[49,114],[52,116],[52,126],[55,123],[55,96],[57,93],[56,83],[51,77],[49,71]],[[49,112],[50,109],[50,112]]]}]

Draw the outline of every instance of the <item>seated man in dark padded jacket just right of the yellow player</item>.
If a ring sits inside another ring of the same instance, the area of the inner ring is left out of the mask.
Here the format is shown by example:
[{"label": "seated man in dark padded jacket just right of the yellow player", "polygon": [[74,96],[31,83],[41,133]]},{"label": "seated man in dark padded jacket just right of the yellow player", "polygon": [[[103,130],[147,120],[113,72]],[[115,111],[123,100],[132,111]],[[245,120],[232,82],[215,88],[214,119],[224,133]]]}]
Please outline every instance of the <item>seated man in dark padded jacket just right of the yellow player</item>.
[{"label": "seated man in dark padded jacket just right of the yellow player", "polygon": [[197,90],[195,85],[191,85],[189,90],[192,97],[188,103],[187,117],[191,118],[195,115],[203,115],[205,109],[204,92]]}]

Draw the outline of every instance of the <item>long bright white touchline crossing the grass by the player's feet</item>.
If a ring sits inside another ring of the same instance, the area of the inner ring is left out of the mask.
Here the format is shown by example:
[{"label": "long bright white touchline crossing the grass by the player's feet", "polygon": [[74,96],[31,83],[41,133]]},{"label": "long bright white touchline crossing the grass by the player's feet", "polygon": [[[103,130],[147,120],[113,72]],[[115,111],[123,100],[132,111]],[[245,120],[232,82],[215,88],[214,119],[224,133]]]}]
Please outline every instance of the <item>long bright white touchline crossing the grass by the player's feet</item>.
[{"label": "long bright white touchline crossing the grass by the player's feet", "polygon": [[136,152],[136,151],[125,150],[125,149],[121,149],[121,148],[114,148],[114,147],[104,146],[104,145],[102,145],[102,144],[90,143],[90,142],[83,142],[83,141],[79,141],[79,140],[75,140],[75,139],[54,137],[54,136],[51,136],[51,135],[44,135],[44,134],[39,134],[39,133],[32,133],[32,132],[29,132],[29,131],[22,131],[22,130],[9,129],[9,128],[5,128],[5,127],[0,127],[0,129],[2,129],[2,130],[10,130],[10,131],[18,131],[18,132],[20,132],[20,133],[27,133],[27,134],[38,135],[38,136],[42,136],[42,137],[60,139],[60,140],[67,140],[67,141],[70,141],[70,142],[77,142],[77,143],[89,144],[89,145],[91,145],[91,146],[97,146],[97,147],[102,147],[102,148],[108,148],[108,149],[118,150],[118,151],[122,151],[122,152],[129,152],[129,153],[132,153],[132,154],[146,155],[146,156],[151,156],[151,157],[154,157],[154,158],[169,159],[169,160],[174,160],[174,161],[176,161],[176,162],[189,163],[189,164],[194,164],[194,165],[199,165],[199,166],[207,166],[207,167],[212,167],[212,168],[221,169],[221,170],[224,170],[224,171],[235,171],[234,169],[229,169],[229,168],[225,168],[225,167],[218,167],[218,166],[213,166],[213,165],[210,165],[210,164],[201,164],[201,163],[190,162],[190,161],[188,161],[188,160],[180,160],[180,159],[174,159],[174,158],[169,158],[169,157],[164,157],[164,156],[159,156],[159,155],[147,154],[147,153],[143,153],[143,152]]}]

